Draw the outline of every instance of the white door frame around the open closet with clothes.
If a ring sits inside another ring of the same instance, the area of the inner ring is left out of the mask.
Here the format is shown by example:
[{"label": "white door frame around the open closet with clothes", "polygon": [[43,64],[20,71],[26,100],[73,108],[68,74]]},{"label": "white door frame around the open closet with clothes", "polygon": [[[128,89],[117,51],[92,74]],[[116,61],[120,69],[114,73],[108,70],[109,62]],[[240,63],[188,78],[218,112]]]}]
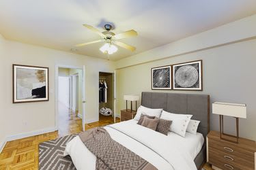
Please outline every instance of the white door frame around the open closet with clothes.
[{"label": "white door frame around the open closet with clothes", "polygon": [[[114,95],[114,103],[113,103],[113,113],[114,113],[114,122],[116,118],[116,102],[117,102],[117,92],[116,92],[116,71],[98,71],[98,80],[100,79],[100,73],[111,73],[114,83],[113,95]],[[99,82],[98,82],[99,83]],[[99,95],[98,95],[99,96]],[[99,101],[99,99],[98,99]],[[98,102],[98,111],[100,110],[100,103]],[[100,120],[100,114],[97,114],[98,121]]]}]

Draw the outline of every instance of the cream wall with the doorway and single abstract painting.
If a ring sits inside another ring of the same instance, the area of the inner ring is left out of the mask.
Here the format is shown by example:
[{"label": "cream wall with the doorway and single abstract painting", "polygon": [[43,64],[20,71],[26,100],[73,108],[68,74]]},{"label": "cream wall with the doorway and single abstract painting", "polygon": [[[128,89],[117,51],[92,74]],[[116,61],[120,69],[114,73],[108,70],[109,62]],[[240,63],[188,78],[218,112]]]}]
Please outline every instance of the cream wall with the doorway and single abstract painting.
[{"label": "cream wall with the doorway and single abstract painting", "polygon": [[[113,71],[113,63],[16,41],[0,40],[0,140],[55,127],[55,65],[86,67],[86,120],[98,118],[98,72]],[[12,103],[12,64],[49,67],[49,101]]]}]

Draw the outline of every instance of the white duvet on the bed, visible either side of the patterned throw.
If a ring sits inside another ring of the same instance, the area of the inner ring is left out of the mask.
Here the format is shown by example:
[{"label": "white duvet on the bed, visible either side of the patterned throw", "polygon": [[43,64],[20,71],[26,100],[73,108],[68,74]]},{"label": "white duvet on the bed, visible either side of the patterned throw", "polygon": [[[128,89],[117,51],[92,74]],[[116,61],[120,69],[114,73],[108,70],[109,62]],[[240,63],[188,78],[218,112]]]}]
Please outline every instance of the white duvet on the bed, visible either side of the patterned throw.
[{"label": "white duvet on the bed, visible either side of the patterned throw", "polygon": [[[136,120],[112,124],[105,126],[104,129],[109,132],[112,139],[157,169],[197,169],[194,159],[203,146],[203,135],[200,133],[186,133],[186,137],[175,133],[166,136],[137,124]],[[96,156],[86,148],[79,136],[67,144],[64,156],[68,154],[76,169],[96,169]]]}]

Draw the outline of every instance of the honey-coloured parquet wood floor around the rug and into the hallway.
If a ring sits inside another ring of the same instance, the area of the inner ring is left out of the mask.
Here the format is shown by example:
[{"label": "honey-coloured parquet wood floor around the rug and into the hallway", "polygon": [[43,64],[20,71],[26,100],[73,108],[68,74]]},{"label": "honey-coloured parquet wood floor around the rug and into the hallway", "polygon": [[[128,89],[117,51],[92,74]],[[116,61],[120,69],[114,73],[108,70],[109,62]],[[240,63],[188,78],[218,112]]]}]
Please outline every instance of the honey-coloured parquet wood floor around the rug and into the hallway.
[{"label": "honey-coloured parquet wood floor around the rug and into the hallway", "polygon": [[[62,126],[62,129],[59,129],[59,132],[55,131],[52,133],[45,133],[42,135],[8,141],[0,154],[0,170],[38,169],[39,143],[56,139],[59,136],[81,132],[82,122],[80,121],[81,119],[79,120],[79,118],[76,117],[76,114],[70,112],[68,114],[68,118],[63,118],[63,121],[59,121],[59,123],[61,123],[60,125],[65,123],[65,126]],[[120,122],[120,119],[117,118],[116,122]],[[85,124],[85,129],[105,126],[107,124],[113,124],[113,118],[111,116],[100,115],[99,122]],[[205,170],[212,170],[208,164],[205,164],[203,168]]]}]

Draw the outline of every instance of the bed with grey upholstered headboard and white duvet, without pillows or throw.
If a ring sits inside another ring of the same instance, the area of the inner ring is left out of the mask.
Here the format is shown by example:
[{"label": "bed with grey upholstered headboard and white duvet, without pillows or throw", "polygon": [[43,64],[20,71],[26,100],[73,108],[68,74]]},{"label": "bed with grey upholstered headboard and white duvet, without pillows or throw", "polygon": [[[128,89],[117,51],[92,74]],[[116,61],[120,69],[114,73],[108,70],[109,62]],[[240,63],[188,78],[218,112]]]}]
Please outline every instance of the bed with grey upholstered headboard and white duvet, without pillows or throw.
[{"label": "bed with grey upholstered headboard and white duvet, without pillows or throw", "polygon": [[[205,163],[205,138],[209,132],[209,95],[190,95],[165,92],[142,92],[141,105],[162,108],[175,114],[193,114],[201,123],[197,135],[181,137],[173,132],[162,135],[128,120],[105,126],[109,135],[157,169],[199,169]],[[95,169],[96,156],[79,137],[70,141],[64,155],[70,155],[76,169]]]}]

